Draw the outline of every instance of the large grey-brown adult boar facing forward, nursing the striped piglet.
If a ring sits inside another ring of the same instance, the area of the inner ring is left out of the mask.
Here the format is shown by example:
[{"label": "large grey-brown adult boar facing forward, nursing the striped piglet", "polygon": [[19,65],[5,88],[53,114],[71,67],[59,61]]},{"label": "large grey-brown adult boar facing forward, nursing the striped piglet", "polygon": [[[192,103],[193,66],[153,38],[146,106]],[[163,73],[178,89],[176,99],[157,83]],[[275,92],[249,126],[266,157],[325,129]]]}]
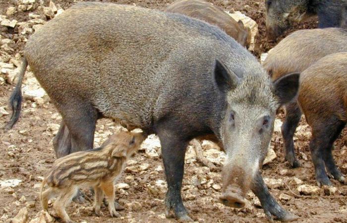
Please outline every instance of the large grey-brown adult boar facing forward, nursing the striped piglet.
[{"label": "large grey-brown adult boar facing forward, nursing the striped piglet", "polygon": [[[184,154],[195,137],[216,136],[227,153],[222,201],[243,207],[248,189],[265,213],[297,217],[270,195],[259,172],[277,108],[298,75],[272,83],[225,32],[184,15],[112,3],[77,3],[28,40],[26,62],[61,113],[57,157],[93,147],[98,118],[156,133],[168,181],[167,214],[191,220],[181,198]],[[15,123],[21,81],[11,96]]]}]

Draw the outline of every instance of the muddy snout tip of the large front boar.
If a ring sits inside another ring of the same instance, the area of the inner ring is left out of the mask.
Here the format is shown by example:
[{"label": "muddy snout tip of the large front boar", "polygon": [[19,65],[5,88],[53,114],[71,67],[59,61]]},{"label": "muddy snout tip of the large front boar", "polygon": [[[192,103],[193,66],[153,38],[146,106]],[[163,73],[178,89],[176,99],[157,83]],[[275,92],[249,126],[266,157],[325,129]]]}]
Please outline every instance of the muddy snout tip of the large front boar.
[{"label": "muddy snout tip of the large front boar", "polygon": [[242,190],[240,188],[235,186],[228,186],[219,200],[225,206],[232,208],[243,208],[246,204],[246,201],[241,194]]}]

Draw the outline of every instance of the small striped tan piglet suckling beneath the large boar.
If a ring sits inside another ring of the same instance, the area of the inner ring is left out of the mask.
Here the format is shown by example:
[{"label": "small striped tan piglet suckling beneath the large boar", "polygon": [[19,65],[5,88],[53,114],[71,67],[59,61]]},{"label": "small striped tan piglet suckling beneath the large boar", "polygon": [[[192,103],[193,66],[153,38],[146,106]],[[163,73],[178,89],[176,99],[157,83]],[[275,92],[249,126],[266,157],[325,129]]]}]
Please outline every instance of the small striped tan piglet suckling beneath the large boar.
[{"label": "small striped tan piglet suckling beneath the large boar", "polygon": [[[100,215],[100,206],[106,195],[110,215],[119,217],[114,204],[114,181],[144,139],[142,133],[123,131],[110,136],[98,149],[76,152],[58,159],[42,182],[40,200],[43,209],[47,210],[48,200],[57,196],[54,209],[63,222],[71,223],[65,211],[66,205],[78,188],[92,186],[96,215]],[[43,191],[46,184],[49,188]]]}]

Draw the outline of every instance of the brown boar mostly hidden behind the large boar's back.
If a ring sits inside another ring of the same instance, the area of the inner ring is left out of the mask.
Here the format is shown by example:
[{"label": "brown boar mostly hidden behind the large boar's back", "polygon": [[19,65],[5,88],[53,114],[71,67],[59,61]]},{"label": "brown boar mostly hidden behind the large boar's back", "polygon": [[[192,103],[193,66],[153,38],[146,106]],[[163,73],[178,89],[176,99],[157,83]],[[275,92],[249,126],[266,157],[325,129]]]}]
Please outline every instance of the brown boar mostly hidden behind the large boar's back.
[{"label": "brown boar mostly hidden behind the large boar's back", "polygon": [[204,0],[176,0],[171,3],[166,12],[179,13],[201,19],[224,30],[239,44],[248,49],[251,41],[249,27],[244,27],[241,20],[236,22],[227,12]]}]

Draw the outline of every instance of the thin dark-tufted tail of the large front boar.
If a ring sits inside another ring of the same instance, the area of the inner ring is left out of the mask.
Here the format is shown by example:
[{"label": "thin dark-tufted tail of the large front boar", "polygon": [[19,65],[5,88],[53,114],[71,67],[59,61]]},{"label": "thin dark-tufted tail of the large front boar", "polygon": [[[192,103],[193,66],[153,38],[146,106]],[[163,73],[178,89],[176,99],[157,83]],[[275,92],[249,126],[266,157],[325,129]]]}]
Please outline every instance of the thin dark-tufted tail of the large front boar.
[{"label": "thin dark-tufted tail of the large front boar", "polygon": [[19,115],[20,115],[20,111],[22,109],[21,87],[22,87],[23,77],[24,77],[27,65],[28,65],[28,61],[26,60],[26,58],[23,58],[23,62],[22,62],[22,65],[20,67],[20,71],[17,74],[19,77],[17,85],[14,88],[11,97],[9,98],[9,104],[12,108],[12,115],[11,115],[10,120],[7,122],[7,124],[4,127],[4,129],[6,129],[6,130],[11,129],[13,127],[13,125],[17,122]]}]

